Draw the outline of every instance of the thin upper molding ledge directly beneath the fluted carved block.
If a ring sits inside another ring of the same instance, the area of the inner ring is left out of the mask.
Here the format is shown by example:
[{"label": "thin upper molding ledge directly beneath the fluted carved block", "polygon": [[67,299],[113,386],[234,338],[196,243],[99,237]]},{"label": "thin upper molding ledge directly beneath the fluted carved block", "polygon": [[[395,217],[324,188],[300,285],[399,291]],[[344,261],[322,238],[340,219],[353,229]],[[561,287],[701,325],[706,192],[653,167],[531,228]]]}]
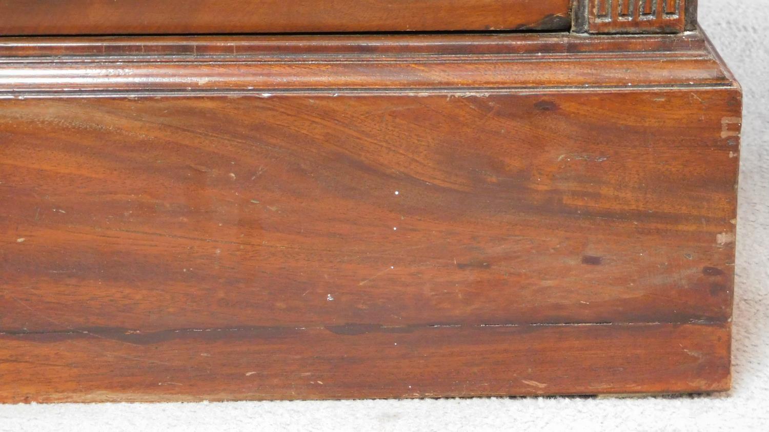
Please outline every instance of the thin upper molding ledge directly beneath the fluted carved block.
[{"label": "thin upper molding ledge directly beneath the fluted carved block", "polygon": [[118,36],[0,38],[0,58],[92,55],[208,56],[312,54],[554,54],[703,51],[704,38],[684,35],[565,33],[490,35]]}]

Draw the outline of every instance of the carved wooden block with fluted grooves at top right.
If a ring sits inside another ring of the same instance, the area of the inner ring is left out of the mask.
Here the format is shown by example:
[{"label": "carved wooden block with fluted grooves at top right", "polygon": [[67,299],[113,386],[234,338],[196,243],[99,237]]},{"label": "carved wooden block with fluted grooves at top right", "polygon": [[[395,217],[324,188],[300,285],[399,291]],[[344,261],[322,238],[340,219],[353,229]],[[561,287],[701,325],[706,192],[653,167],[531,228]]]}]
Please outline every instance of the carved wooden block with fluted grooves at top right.
[{"label": "carved wooden block with fluted grooves at top right", "polygon": [[694,29],[697,0],[575,0],[576,33],[681,33]]}]

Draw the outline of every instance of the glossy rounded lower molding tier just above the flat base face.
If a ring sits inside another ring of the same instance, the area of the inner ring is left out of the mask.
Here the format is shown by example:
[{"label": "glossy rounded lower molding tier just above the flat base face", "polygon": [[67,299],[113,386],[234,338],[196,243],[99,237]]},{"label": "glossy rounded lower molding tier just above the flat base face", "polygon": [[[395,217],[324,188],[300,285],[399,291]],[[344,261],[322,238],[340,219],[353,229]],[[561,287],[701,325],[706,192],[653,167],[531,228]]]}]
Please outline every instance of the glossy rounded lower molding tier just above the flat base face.
[{"label": "glossy rounded lower molding tier just above the flat base face", "polygon": [[494,88],[728,84],[713,59],[152,64],[2,64],[0,93],[23,91]]}]

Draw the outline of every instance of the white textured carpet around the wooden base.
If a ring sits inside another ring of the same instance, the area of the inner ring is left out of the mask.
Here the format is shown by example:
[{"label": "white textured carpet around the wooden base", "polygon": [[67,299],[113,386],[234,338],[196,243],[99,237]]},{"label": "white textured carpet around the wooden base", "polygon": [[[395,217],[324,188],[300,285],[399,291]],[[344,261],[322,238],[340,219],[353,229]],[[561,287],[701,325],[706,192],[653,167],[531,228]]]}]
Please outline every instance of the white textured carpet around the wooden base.
[{"label": "white textured carpet around the wooden base", "polygon": [[700,4],[745,91],[731,394],[0,405],[0,430],[769,430],[769,2]]}]

